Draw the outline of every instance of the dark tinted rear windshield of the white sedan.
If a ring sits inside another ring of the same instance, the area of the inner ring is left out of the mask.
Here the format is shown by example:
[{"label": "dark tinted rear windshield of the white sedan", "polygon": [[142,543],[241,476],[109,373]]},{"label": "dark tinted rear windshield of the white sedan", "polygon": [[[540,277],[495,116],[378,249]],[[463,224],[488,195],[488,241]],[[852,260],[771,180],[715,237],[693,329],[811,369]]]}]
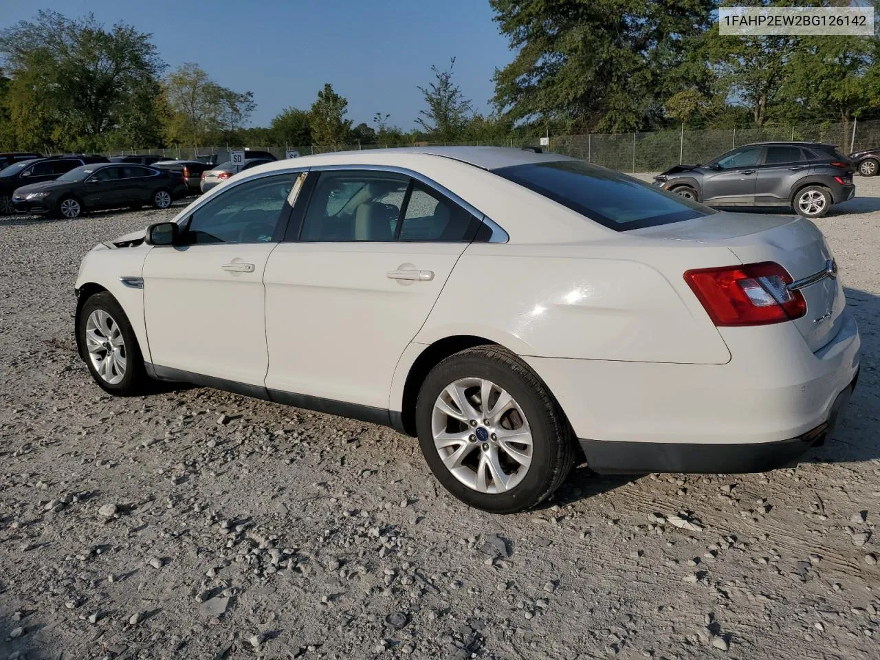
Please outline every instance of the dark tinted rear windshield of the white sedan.
[{"label": "dark tinted rear windshield of the white sedan", "polygon": [[513,165],[493,172],[614,231],[679,223],[716,213],[678,194],[583,160]]}]

